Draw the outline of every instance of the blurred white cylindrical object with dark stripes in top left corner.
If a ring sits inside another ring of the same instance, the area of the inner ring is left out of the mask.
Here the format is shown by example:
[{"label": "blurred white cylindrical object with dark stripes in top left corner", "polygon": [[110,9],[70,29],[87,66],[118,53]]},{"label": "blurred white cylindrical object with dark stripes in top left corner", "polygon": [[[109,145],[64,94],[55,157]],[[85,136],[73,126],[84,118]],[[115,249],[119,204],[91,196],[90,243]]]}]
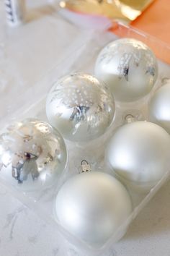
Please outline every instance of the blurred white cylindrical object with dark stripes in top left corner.
[{"label": "blurred white cylindrical object with dark stripes in top left corner", "polygon": [[4,0],[6,9],[6,19],[9,25],[17,26],[25,19],[24,0]]}]

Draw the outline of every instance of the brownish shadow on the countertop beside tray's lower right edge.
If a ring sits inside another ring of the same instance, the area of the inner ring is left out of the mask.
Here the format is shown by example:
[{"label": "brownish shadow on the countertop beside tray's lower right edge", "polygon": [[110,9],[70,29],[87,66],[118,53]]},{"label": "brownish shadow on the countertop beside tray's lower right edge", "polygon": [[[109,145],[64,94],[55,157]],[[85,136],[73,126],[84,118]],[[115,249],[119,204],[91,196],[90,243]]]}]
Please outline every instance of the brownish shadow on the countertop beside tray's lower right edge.
[{"label": "brownish shadow on the countertop beside tray's lower right edge", "polygon": [[130,225],[122,240],[151,237],[170,231],[170,181],[157,192]]}]

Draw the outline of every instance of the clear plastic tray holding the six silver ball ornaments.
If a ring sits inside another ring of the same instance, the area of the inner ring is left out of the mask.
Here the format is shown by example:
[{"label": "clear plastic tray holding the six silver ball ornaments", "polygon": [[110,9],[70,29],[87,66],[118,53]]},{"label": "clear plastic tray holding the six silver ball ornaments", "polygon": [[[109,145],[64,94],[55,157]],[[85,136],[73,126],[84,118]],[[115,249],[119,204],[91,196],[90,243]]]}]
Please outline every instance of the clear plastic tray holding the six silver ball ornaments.
[{"label": "clear plastic tray holding the six silver ball ornaments", "polygon": [[[121,32],[121,33],[120,33]],[[123,32],[123,33],[122,33]],[[164,43],[152,38],[149,35],[140,33],[137,30],[134,30],[133,27],[127,27],[125,25],[116,24],[115,25],[115,35],[114,33],[109,32],[94,32],[91,33],[91,38],[86,40],[83,44],[77,45],[77,49],[69,52],[66,58],[61,61],[56,67],[48,72],[48,75],[45,76],[43,80],[35,84],[30,90],[31,93],[34,93],[33,101],[30,100],[26,102],[22,108],[20,107],[18,111],[14,111],[10,116],[6,116],[1,120],[1,129],[4,130],[4,127],[8,126],[14,120],[25,119],[27,117],[36,117],[43,121],[47,121],[45,115],[45,98],[48,93],[48,90],[53,85],[53,82],[58,80],[59,77],[64,74],[69,74],[71,72],[89,72],[93,74],[94,72],[94,62],[97,57],[97,54],[107,43],[118,38],[118,35],[125,37],[133,37],[139,40],[142,40],[148,46],[154,44],[156,52],[158,51],[161,59],[158,59],[158,80],[156,85],[153,88],[153,91],[156,88],[160,87],[164,83],[164,79],[169,77],[170,66],[166,64],[164,59],[166,59],[166,53],[170,54],[169,46],[166,46]],[[107,140],[115,132],[115,129],[122,124],[125,124],[129,121],[130,116],[133,116],[133,119],[136,120],[147,120],[147,103],[151,98],[153,91],[147,97],[136,101],[133,103],[116,103],[116,116],[115,121],[112,123],[112,126],[108,131],[99,139],[94,140],[89,143],[72,143],[67,142],[68,147],[68,166],[63,172],[60,179],[58,179],[57,184],[51,187],[50,189],[45,189],[40,192],[22,192],[17,186],[12,186],[8,183],[6,179],[1,175],[1,183],[3,183],[7,189],[9,189],[12,194],[18,197],[22,202],[28,205],[30,208],[35,210],[37,215],[41,216],[48,223],[55,226],[56,229],[60,230],[62,234],[68,240],[68,247],[72,247],[77,255],[110,255],[110,247],[113,246],[126,232],[131,221],[137,216],[140,210],[146,205],[146,203],[153,197],[157,190],[166,182],[169,177],[169,170],[165,176],[156,184],[155,187],[147,194],[135,194],[133,190],[129,189],[130,195],[133,200],[133,213],[128,217],[125,223],[122,223],[122,226],[112,234],[112,237],[107,241],[106,244],[103,244],[102,247],[91,247],[89,244],[81,241],[79,237],[74,237],[71,234],[68,234],[59,223],[55,221],[55,215],[53,214],[53,204],[55,196],[57,195],[59,187],[69,179],[70,176],[79,173],[81,160],[86,159],[91,164],[91,168],[94,171],[106,171],[111,174],[109,168],[104,166],[104,148],[107,144]],[[21,95],[23,102],[23,95]],[[101,146],[102,145],[102,146]],[[111,254],[112,255],[112,254]]]}]

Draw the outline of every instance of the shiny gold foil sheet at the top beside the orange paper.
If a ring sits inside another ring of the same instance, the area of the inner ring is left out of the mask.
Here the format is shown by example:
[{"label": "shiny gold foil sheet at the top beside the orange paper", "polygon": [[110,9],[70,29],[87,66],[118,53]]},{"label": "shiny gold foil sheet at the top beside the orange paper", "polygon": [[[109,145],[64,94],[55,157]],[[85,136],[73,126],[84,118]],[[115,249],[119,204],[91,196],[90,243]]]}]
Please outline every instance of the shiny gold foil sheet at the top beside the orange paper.
[{"label": "shiny gold foil sheet at the top beside the orange paper", "polygon": [[135,20],[154,0],[66,0],[60,7],[73,12],[99,15],[111,20]]}]

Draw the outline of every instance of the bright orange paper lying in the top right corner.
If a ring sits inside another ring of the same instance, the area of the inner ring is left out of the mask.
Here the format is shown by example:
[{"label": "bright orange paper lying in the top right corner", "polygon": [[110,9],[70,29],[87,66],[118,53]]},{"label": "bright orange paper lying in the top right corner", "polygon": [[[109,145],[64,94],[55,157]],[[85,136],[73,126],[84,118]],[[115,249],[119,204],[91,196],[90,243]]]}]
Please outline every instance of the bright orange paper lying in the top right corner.
[{"label": "bright orange paper lying in the top right corner", "polygon": [[[138,34],[127,27],[113,25],[110,31],[120,37],[142,40],[154,51],[156,56],[170,64],[170,1],[153,1],[148,9],[130,24]],[[146,33],[146,38],[140,35]],[[148,36],[147,36],[148,34]],[[148,40],[150,38],[150,40]]]}]

